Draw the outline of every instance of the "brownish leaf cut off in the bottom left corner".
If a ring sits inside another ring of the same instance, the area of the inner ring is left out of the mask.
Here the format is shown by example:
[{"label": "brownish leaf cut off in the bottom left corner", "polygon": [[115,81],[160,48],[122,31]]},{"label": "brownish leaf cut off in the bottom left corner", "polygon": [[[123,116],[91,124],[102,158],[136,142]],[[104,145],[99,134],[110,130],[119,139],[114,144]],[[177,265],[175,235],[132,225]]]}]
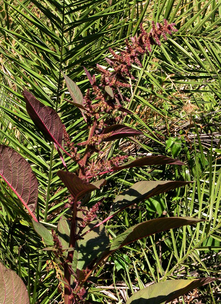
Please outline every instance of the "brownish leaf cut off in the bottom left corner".
[{"label": "brownish leaf cut off in the bottom left corner", "polygon": [[29,304],[27,288],[15,271],[0,262],[0,303]]}]

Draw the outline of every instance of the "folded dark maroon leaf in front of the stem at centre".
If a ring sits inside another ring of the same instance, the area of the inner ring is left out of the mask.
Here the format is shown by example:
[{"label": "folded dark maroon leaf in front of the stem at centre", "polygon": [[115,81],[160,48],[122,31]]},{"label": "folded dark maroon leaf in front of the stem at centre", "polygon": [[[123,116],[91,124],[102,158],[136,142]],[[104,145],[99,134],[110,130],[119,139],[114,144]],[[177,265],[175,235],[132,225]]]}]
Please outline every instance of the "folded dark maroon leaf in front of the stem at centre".
[{"label": "folded dark maroon leaf in front of the stem at centre", "polygon": [[61,178],[65,186],[68,188],[68,191],[75,198],[75,201],[77,201],[77,199],[82,198],[86,193],[92,192],[94,190],[98,190],[100,186],[103,185],[104,183],[104,181],[101,180],[99,181],[100,185],[98,184],[96,186],[96,184],[93,185],[86,181],[83,181],[74,173],[66,172],[62,170],[59,170],[57,174]]}]

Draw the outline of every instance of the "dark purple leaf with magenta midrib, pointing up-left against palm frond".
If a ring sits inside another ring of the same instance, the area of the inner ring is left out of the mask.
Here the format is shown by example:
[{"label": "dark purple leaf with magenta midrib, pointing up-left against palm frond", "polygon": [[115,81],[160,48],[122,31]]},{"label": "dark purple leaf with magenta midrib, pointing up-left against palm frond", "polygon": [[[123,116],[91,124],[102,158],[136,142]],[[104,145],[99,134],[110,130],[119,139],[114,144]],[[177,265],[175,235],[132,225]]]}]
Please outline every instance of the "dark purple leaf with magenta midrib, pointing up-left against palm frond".
[{"label": "dark purple leaf with magenta midrib, pointing up-left against palm frond", "polygon": [[35,126],[47,137],[61,147],[63,124],[54,109],[38,101],[30,92],[22,92],[26,101],[26,110]]}]

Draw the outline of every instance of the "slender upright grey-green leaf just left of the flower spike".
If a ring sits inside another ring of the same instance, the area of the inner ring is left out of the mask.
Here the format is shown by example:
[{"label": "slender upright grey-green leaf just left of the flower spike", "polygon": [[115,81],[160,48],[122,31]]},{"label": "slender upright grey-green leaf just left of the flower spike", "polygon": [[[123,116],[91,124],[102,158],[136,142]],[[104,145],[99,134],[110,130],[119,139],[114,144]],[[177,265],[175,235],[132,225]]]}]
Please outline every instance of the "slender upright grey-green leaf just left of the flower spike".
[{"label": "slender upright grey-green leaf just left of the flower spike", "polygon": [[65,82],[66,82],[68,91],[71,94],[71,97],[73,99],[73,104],[80,109],[80,111],[82,113],[82,116],[84,117],[84,120],[86,120],[86,118],[84,116],[84,110],[86,110],[86,109],[83,105],[84,104],[84,98],[83,98],[83,95],[81,93],[81,90],[79,89],[79,87],[76,85],[76,83],[73,80],[71,80],[63,72],[61,72],[61,73],[65,78]]}]

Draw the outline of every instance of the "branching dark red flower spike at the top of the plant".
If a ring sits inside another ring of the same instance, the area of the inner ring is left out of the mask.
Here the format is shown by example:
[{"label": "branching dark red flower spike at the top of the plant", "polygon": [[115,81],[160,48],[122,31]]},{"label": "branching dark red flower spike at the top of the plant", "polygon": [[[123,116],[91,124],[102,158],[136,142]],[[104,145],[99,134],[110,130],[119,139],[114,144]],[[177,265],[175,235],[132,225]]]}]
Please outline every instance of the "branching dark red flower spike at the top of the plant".
[{"label": "branching dark red flower spike at the top of the plant", "polygon": [[[163,24],[152,22],[152,29],[147,33],[143,25],[140,25],[140,34],[138,37],[132,37],[131,43],[128,40],[125,41],[126,48],[120,53],[116,53],[111,48],[110,53],[112,58],[106,58],[107,63],[111,66],[112,71],[106,69],[97,64],[96,70],[101,73],[100,84],[97,84],[95,75],[91,76],[85,69],[86,75],[92,85],[92,95],[96,102],[92,102],[90,91],[87,90],[84,96],[84,107],[86,109],[85,116],[88,126],[93,125],[93,132],[90,132],[88,140],[78,143],[78,146],[85,146],[86,153],[81,158],[77,152],[77,148],[71,143],[69,135],[64,127],[64,139],[67,147],[71,150],[72,158],[78,163],[80,168],[80,177],[89,181],[90,178],[104,171],[111,170],[111,166],[116,166],[119,161],[125,160],[127,157],[120,156],[112,160],[100,161],[96,163],[87,163],[88,157],[92,151],[102,153],[100,149],[100,143],[107,137],[111,136],[111,133],[102,134],[103,128],[107,125],[113,125],[119,123],[119,121],[126,115],[125,108],[120,104],[129,99],[124,96],[120,88],[128,88],[130,84],[126,78],[134,79],[131,74],[132,64],[137,64],[142,67],[140,58],[144,54],[151,52],[153,45],[160,45],[160,38],[163,37],[167,40],[167,34],[172,35],[177,29],[174,27],[174,23],[167,23],[167,20],[163,20]],[[92,127],[91,127],[92,128]],[[90,178],[89,178],[90,177]]]}]

